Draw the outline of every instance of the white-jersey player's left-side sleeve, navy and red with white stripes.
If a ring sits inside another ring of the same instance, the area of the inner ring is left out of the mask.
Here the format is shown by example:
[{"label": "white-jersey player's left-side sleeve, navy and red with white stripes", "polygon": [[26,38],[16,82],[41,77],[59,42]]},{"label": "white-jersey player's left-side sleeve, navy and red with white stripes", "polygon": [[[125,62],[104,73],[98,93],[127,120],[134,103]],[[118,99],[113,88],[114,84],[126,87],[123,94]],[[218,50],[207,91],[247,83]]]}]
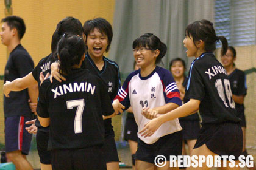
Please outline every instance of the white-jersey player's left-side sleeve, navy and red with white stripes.
[{"label": "white-jersey player's left-side sleeve, navy and red with white stripes", "polygon": [[126,107],[124,110],[130,107],[130,99],[129,99],[129,83],[132,78],[130,74],[126,80],[124,81],[123,86],[118,90],[118,94],[116,95],[115,99],[118,99],[121,104]]}]

